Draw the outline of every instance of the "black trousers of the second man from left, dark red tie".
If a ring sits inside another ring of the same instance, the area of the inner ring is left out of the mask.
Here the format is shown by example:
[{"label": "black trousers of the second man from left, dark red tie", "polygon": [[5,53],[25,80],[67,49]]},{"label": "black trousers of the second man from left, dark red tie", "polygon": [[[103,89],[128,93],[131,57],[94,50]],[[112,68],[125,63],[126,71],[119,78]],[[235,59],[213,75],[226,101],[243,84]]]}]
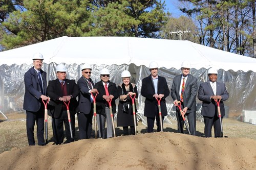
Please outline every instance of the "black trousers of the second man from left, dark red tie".
[{"label": "black trousers of the second man from left, dark red tie", "polygon": [[71,128],[73,139],[71,138],[68,113],[67,110],[63,110],[60,114],[59,118],[52,118],[52,128],[53,128],[53,136],[55,144],[61,144],[64,140],[64,129],[63,123],[65,126],[67,141],[65,143],[70,143],[74,141],[75,137],[75,115],[70,114],[71,119]]}]

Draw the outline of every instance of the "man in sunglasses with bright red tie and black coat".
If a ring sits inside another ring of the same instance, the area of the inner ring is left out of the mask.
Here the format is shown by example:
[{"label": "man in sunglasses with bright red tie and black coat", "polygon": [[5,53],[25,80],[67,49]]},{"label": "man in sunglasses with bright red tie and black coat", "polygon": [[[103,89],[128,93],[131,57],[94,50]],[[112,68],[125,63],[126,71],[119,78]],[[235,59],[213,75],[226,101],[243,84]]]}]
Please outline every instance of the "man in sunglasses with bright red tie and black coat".
[{"label": "man in sunglasses with bright red tie and black coat", "polygon": [[[110,116],[109,103],[112,99],[112,112],[116,113],[116,102],[118,98],[118,92],[116,84],[110,81],[110,71],[107,68],[103,68],[100,71],[101,81],[95,83],[95,88],[98,90],[96,97],[96,108],[97,108],[97,124],[99,127],[99,138],[105,138],[105,122],[106,122],[106,138],[113,137],[112,119]],[[114,115],[113,115],[114,116]]]}]

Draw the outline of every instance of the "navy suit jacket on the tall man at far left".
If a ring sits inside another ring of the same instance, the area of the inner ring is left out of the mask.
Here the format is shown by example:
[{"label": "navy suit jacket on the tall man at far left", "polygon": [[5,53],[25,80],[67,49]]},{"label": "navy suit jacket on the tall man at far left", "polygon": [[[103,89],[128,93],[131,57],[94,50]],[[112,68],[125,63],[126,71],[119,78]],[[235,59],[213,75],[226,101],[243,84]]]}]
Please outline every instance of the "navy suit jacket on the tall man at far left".
[{"label": "navy suit jacket on the tall man at far left", "polygon": [[[40,70],[41,77],[42,77],[42,84],[45,95],[46,88],[47,88],[47,78],[46,78],[46,72],[43,70]],[[43,94],[41,92],[41,88],[39,85],[39,81],[37,78],[37,73],[34,67],[31,67],[24,75],[24,82],[25,82],[25,95],[24,95],[24,103],[23,103],[23,109],[37,112],[40,109],[40,106],[42,104],[40,96]]]}]

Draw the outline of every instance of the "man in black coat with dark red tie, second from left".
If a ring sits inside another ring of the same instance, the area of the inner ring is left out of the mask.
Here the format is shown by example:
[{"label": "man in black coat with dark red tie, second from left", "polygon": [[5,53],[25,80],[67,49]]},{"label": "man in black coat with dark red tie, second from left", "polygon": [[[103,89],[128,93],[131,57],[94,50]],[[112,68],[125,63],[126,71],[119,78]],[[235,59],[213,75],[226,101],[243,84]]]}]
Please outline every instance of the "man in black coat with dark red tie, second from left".
[{"label": "man in black coat with dark red tie, second from left", "polygon": [[[77,113],[76,97],[79,94],[78,86],[75,80],[66,79],[67,69],[63,64],[56,67],[57,79],[49,81],[47,93],[51,98],[48,105],[48,114],[52,116],[52,128],[55,144],[61,144],[64,139],[63,123],[66,130],[66,143],[74,141],[75,136],[75,114]],[[69,102],[71,129],[73,139],[68,122],[67,107],[64,102]]]}]

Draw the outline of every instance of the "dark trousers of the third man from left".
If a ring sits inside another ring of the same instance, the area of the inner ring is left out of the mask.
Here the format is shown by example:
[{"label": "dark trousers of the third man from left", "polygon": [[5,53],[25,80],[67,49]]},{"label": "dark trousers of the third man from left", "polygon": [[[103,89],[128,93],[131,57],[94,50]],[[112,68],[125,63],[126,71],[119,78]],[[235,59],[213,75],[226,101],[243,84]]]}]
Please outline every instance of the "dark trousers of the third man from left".
[{"label": "dark trousers of the third man from left", "polygon": [[80,139],[90,139],[93,127],[93,113],[77,113],[78,129]]}]

